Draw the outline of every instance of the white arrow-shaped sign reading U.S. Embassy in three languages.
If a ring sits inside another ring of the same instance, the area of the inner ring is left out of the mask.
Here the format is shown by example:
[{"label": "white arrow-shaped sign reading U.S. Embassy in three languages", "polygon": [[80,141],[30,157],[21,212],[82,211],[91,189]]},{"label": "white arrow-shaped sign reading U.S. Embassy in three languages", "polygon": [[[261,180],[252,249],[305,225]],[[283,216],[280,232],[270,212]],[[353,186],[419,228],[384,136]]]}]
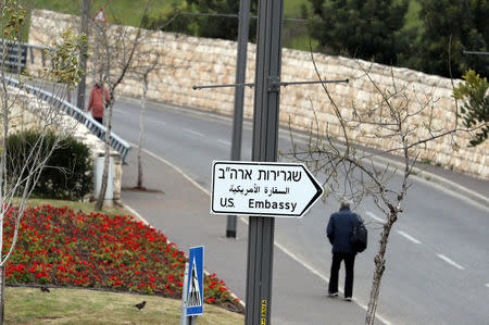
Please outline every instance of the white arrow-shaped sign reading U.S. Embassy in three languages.
[{"label": "white arrow-shaped sign reading U.S. Embassy in three languages", "polygon": [[211,213],[301,217],[323,188],[303,164],[214,161]]}]

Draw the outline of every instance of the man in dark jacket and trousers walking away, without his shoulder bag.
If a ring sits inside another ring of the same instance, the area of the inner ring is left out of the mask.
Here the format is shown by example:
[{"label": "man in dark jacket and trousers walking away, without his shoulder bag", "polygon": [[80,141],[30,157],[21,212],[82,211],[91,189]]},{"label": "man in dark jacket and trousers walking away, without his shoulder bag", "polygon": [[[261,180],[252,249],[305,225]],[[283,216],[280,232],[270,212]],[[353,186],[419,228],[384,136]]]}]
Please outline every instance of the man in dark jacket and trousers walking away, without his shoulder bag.
[{"label": "man in dark jacket and trousers walking away, without his shoulder bag", "polygon": [[344,261],[344,300],[351,301],[353,296],[353,266],[356,251],[350,238],[353,227],[360,224],[360,216],[350,211],[350,203],[342,201],[339,212],[333,213],[329,217],[326,234],[333,245],[331,273],[329,277],[329,297],[338,297],[338,274],[341,261]]}]

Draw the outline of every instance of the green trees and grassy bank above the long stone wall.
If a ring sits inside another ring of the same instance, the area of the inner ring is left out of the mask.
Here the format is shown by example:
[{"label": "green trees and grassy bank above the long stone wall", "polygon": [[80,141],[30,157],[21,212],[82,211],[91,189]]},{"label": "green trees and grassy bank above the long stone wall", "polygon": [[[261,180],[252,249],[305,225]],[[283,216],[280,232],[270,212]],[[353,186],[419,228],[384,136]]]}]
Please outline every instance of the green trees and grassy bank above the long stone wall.
[{"label": "green trees and grassy bank above the long stone wall", "polygon": [[[138,26],[131,0],[92,0],[92,14],[104,8],[124,25]],[[34,8],[79,14],[70,0],[32,0]],[[138,5],[146,1],[138,1]],[[236,0],[168,0],[151,3],[143,26],[192,36],[236,39],[238,20],[186,15],[191,13],[237,14]],[[252,1],[256,14],[258,1]],[[285,22],[284,46],[342,54],[379,63],[415,68],[429,74],[461,77],[469,68],[489,75],[489,57],[463,55],[463,50],[489,51],[489,2],[487,0],[285,0],[286,17],[312,16],[310,30],[303,23]],[[170,24],[168,24],[170,23]],[[250,38],[255,39],[256,20]],[[451,38],[451,42],[450,42]],[[450,54],[449,54],[450,51]]]}]

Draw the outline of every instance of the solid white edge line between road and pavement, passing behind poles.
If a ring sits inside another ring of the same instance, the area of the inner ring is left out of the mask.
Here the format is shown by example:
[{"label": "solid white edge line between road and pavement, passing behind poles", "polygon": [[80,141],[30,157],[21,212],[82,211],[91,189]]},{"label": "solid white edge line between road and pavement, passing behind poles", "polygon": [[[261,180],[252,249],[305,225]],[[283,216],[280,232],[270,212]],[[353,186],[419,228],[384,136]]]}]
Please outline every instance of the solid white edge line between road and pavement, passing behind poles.
[{"label": "solid white edge line between road and pavement, passing behind poles", "polygon": [[[130,143],[130,146],[135,147],[136,145]],[[188,176],[187,174],[185,174],[184,171],[181,171],[180,168],[178,168],[176,165],[172,164],[170,161],[159,157],[158,154],[149,151],[148,149],[142,149],[142,151],[145,151],[146,153],[148,153],[149,155],[158,159],[159,161],[161,161],[162,163],[168,165],[170,167],[172,167],[174,171],[176,171],[178,174],[180,174],[184,178],[186,178],[188,182],[190,182],[192,185],[195,185],[198,189],[200,189],[202,192],[204,192],[205,195],[208,195],[209,197],[211,196],[211,192],[205,189],[204,187],[202,187],[200,184],[198,184],[196,180],[193,180],[190,176]],[[239,220],[244,223],[246,225],[248,225],[248,220],[246,217],[243,217],[242,215],[239,216]],[[299,257],[297,257],[296,254],[293,254],[292,252],[290,252],[289,250],[287,250],[284,246],[281,246],[279,242],[274,241],[274,245],[280,249],[284,253],[286,253],[287,255],[289,255],[290,258],[292,258],[293,260],[296,260],[298,263],[300,263],[302,266],[304,266],[306,270],[309,270],[311,273],[313,273],[314,275],[316,275],[317,277],[322,278],[323,280],[325,280],[326,283],[329,283],[329,278],[327,276],[324,276],[319,271],[315,270],[313,266],[309,265],[305,261],[303,261],[302,259],[300,259]],[[340,290],[341,291],[341,290]],[[364,303],[361,303],[356,298],[353,298],[353,301],[356,302],[356,304],[359,304],[363,310],[367,310],[367,305]],[[242,300],[239,301],[242,305],[244,305],[244,302],[242,302]],[[379,320],[380,322],[383,322],[386,325],[390,325],[391,323],[388,322],[383,315],[380,315],[378,312],[375,314],[375,317],[377,320]]]}]

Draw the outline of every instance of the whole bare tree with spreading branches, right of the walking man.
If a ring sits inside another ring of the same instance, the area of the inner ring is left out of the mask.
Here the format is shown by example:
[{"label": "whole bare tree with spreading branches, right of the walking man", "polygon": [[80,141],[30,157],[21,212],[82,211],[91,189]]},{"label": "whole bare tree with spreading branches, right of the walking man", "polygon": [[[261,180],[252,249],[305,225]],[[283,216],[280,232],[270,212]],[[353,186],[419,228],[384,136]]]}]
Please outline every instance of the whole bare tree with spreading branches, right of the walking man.
[{"label": "whole bare tree with spreading branches, right of the walking man", "polygon": [[[313,58],[314,62],[314,58]],[[459,125],[457,104],[455,102],[453,124],[450,127],[437,125],[436,112],[447,110],[440,108],[431,93],[418,89],[411,90],[410,85],[396,84],[391,70],[391,86],[381,88],[369,74],[369,66],[358,62],[359,67],[377,95],[365,107],[351,104],[348,110],[340,108],[333,98],[326,84],[323,89],[327,102],[336,116],[338,138],[329,136],[328,123],[319,122],[315,117],[310,128],[309,141],[299,146],[291,135],[292,149],[284,153],[285,157],[298,160],[308,165],[311,171],[324,179],[325,196],[338,200],[349,199],[355,204],[364,199],[372,199],[386,216],[381,224],[378,251],[375,255],[375,271],[372,283],[368,309],[365,324],[374,324],[378,304],[380,280],[386,270],[386,250],[391,228],[403,212],[403,201],[410,188],[410,176],[419,161],[423,150],[430,142],[443,137],[450,137],[453,150],[459,145],[454,135],[468,132]],[[314,62],[314,66],[315,62]],[[317,72],[317,76],[319,76]],[[375,96],[374,96],[375,97]],[[314,108],[313,108],[314,109]],[[447,114],[449,112],[443,112]],[[314,112],[314,114],[316,114]],[[322,134],[324,136],[322,136]],[[391,149],[373,153],[364,150],[360,145],[391,143]],[[375,157],[386,153],[401,157],[402,167],[380,165],[374,161]],[[401,176],[401,182],[394,180],[394,174]]]}]

